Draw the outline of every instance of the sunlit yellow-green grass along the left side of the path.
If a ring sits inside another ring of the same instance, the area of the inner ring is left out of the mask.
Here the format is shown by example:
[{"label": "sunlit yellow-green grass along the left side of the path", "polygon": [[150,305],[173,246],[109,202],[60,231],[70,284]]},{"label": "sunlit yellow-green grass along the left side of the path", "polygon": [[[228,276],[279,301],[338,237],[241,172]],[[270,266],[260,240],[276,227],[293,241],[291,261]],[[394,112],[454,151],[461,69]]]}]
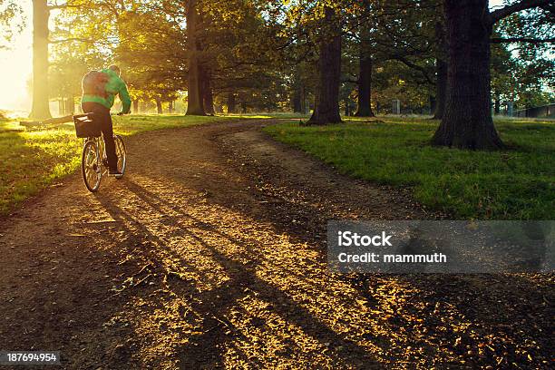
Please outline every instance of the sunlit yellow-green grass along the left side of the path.
[{"label": "sunlit yellow-green grass along the left side of the path", "polygon": [[[116,133],[133,135],[223,119],[226,118],[146,115],[114,117],[113,121]],[[25,129],[18,122],[0,122],[0,214],[76,170],[81,146],[73,123]]]}]

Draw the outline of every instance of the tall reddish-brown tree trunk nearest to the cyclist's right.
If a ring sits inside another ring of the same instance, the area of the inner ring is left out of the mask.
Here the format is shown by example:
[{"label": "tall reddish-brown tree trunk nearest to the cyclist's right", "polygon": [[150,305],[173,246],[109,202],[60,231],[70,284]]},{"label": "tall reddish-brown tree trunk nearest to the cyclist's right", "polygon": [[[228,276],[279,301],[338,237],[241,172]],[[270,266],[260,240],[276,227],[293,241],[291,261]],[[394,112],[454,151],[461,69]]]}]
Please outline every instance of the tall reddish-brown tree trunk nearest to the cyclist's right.
[{"label": "tall reddish-brown tree trunk nearest to the cyclist's right", "polygon": [[190,0],[187,7],[187,38],[189,44],[189,85],[187,87],[187,115],[206,115],[200,86],[200,47],[196,37],[199,24],[197,0]]}]

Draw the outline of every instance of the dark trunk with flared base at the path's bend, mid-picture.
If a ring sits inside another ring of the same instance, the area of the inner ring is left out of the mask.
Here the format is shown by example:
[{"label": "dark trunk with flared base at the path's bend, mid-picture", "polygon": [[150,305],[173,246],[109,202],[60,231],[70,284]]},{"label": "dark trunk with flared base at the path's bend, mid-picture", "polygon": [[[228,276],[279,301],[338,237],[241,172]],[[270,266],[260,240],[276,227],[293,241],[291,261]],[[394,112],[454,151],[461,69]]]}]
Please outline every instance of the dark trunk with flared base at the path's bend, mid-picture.
[{"label": "dark trunk with flared base at the path's bend, mid-picture", "polygon": [[307,124],[341,122],[339,115],[339,83],[341,75],[341,30],[335,10],[326,6],[326,24],[333,34],[326,34],[320,41],[316,104]]}]

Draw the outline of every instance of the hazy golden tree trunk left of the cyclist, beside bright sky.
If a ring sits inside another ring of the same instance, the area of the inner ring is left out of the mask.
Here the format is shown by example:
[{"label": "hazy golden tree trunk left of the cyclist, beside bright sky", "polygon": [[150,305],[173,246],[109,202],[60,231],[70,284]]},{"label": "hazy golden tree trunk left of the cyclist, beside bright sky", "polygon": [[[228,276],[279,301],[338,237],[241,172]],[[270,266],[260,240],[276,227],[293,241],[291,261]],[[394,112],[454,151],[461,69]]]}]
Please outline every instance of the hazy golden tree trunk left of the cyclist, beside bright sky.
[{"label": "hazy golden tree trunk left of the cyclist, beside bright sky", "polygon": [[48,101],[48,18],[46,0],[33,0],[33,105],[29,116],[50,118]]}]

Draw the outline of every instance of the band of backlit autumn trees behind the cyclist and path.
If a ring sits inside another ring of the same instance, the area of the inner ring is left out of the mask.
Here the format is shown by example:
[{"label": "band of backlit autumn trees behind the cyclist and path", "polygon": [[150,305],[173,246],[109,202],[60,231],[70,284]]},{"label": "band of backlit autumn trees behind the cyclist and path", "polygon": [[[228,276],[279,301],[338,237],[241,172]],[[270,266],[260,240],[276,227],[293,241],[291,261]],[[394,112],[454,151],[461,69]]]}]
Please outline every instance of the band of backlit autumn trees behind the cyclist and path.
[{"label": "band of backlit autumn trees behind the cyclist and path", "polygon": [[[118,63],[135,111],[313,110],[311,121],[325,123],[340,122],[340,110],[390,113],[399,100],[401,112],[441,119],[453,91],[450,65],[463,57],[448,50],[462,30],[453,12],[466,5],[489,10],[486,0],[36,1],[35,33],[49,19],[50,29],[35,34],[35,74],[47,71],[38,81],[50,86],[35,92],[43,103],[34,112],[49,114],[45,99],[70,110],[83,73]],[[494,112],[508,102],[529,108],[554,101],[553,7],[511,0],[480,21],[491,29],[480,59],[487,59],[491,98],[484,99]],[[0,3],[5,40],[17,32],[6,25],[23,24],[21,17],[17,2]]]}]

